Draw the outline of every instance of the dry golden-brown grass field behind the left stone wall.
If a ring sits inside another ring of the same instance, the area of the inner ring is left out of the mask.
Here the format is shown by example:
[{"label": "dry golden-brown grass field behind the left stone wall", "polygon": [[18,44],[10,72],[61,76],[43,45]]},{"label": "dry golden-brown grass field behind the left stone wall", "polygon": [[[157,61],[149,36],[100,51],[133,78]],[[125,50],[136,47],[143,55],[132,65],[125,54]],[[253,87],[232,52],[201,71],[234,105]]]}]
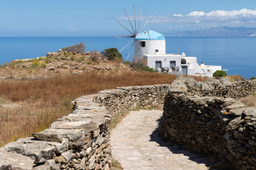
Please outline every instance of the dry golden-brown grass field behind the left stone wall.
[{"label": "dry golden-brown grass field behind the left stone wall", "polygon": [[[194,77],[197,81],[206,78]],[[171,84],[175,75],[126,72],[121,74],[61,75],[44,80],[0,81],[0,99],[22,107],[1,107],[0,145],[28,137],[49,128],[57,118],[72,112],[71,101],[81,95],[95,94],[120,86]]]}]

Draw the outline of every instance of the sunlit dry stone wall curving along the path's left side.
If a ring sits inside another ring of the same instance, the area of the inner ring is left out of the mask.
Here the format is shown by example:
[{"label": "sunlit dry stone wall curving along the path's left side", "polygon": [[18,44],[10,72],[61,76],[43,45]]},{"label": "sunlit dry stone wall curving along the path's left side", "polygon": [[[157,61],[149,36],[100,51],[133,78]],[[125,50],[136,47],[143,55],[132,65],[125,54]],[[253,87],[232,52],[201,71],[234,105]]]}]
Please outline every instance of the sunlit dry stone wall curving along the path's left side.
[{"label": "sunlit dry stone wall curving along the path's left side", "polygon": [[120,87],[81,96],[49,129],[0,148],[0,169],[108,170],[108,124],[120,112],[164,102],[170,85]]}]

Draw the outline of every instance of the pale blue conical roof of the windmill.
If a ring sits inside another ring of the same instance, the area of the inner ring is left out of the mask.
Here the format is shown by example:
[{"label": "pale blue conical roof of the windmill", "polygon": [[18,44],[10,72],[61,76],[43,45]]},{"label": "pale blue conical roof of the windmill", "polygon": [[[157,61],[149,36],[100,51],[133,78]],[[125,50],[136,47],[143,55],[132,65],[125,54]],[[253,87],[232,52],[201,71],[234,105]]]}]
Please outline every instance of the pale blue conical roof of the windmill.
[{"label": "pale blue conical roof of the windmill", "polygon": [[164,35],[157,33],[156,31],[148,30],[142,33],[139,33],[135,37],[136,40],[165,40]]}]

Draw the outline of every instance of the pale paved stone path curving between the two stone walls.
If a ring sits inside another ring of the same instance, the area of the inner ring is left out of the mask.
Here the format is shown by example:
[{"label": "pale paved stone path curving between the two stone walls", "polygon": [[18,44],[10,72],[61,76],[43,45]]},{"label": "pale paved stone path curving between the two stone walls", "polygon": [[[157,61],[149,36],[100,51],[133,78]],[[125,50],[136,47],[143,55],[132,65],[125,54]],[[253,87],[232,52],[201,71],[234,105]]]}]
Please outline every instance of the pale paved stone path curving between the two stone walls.
[{"label": "pale paved stone path curving between the two stone walls", "polygon": [[124,170],[209,169],[205,163],[210,161],[206,158],[180,150],[179,146],[166,146],[158,137],[162,112],[131,111],[124,117],[110,132],[114,159],[121,163]]}]

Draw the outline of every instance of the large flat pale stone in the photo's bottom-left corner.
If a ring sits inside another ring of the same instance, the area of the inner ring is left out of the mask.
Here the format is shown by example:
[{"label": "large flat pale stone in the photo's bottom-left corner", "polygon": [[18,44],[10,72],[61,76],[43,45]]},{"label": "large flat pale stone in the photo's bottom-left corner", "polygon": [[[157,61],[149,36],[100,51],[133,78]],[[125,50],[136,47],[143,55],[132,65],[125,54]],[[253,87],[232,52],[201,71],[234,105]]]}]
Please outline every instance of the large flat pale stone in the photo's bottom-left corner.
[{"label": "large flat pale stone in the photo's bottom-left corner", "polygon": [[0,148],[0,169],[31,170],[34,160],[21,154],[7,152]]}]

